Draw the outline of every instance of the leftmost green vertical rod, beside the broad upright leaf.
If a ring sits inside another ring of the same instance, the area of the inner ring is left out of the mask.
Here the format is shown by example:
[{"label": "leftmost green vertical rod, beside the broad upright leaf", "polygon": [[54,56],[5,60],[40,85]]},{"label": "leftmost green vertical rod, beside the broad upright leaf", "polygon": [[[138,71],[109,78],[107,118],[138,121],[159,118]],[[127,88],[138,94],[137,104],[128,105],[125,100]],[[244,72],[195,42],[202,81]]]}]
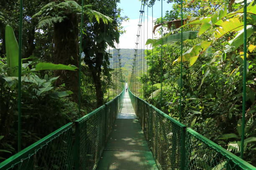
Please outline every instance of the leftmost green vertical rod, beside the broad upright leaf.
[{"label": "leftmost green vertical rod, beside the broad upright leaf", "polygon": [[21,58],[22,58],[23,0],[20,0],[19,58],[18,58],[18,152],[21,150]]}]

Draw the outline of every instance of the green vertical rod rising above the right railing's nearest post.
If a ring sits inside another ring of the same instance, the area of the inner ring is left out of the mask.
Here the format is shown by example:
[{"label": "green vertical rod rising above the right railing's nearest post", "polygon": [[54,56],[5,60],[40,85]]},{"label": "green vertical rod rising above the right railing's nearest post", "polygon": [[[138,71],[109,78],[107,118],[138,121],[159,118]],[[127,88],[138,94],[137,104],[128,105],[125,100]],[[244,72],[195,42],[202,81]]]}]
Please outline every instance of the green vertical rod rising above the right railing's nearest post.
[{"label": "green vertical rod rising above the right railing's nearest post", "polygon": [[[181,26],[183,25],[183,0],[181,0]],[[182,54],[183,54],[183,28],[181,28],[181,61],[180,61],[180,96],[179,96],[179,120],[182,118]]]}]

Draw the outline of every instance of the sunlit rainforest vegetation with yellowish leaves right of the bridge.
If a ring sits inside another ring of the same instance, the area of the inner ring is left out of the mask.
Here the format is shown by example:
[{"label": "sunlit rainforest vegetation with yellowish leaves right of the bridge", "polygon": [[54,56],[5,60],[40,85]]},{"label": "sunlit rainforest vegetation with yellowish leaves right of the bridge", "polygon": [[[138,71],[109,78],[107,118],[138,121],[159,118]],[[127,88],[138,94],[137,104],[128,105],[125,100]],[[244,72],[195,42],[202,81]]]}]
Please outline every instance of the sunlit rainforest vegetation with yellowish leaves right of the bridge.
[{"label": "sunlit rainforest vegetation with yellowish leaves right of the bridge", "polygon": [[[155,1],[151,0],[151,4]],[[163,38],[148,39],[148,74],[137,95],[179,119],[182,83],[182,120],[210,140],[239,155],[243,89],[243,1],[186,0],[183,4],[183,71],[181,60],[180,0],[154,22]],[[255,53],[256,5],[248,1],[245,157],[256,165]],[[161,67],[161,44],[162,67]],[[163,69],[162,103],[161,69]],[[161,107],[161,108],[160,108]]]}]

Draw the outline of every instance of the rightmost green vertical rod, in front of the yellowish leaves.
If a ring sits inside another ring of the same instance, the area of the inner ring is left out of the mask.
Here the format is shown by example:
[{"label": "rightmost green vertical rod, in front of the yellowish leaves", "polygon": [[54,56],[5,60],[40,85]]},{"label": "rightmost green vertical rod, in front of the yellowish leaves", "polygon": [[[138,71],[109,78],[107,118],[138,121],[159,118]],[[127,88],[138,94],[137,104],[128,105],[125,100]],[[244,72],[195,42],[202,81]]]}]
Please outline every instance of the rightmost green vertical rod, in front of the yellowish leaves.
[{"label": "rightmost green vertical rod, in front of the yellowish leaves", "polygon": [[246,32],[246,24],[247,24],[247,0],[243,1],[243,112],[242,112],[242,133],[241,133],[241,154],[240,157],[243,159],[243,145],[244,145],[244,128],[245,128],[245,112],[246,112],[246,53],[247,53],[247,32]]}]

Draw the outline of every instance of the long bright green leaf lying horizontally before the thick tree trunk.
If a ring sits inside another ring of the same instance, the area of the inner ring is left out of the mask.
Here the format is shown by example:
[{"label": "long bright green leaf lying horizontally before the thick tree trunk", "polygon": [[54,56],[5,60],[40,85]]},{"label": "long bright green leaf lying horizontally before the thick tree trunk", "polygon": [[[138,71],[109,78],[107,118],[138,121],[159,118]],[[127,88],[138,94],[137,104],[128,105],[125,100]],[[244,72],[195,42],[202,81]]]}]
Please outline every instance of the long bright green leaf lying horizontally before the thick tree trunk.
[{"label": "long bright green leaf lying horizontally before the thick tree trunk", "polygon": [[[34,70],[71,70],[75,71],[77,69],[74,65],[64,65],[64,64],[53,64],[49,62],[39,62],[36,65],[36,68]],[[33,70],[33,69],[31,69]]]}]

